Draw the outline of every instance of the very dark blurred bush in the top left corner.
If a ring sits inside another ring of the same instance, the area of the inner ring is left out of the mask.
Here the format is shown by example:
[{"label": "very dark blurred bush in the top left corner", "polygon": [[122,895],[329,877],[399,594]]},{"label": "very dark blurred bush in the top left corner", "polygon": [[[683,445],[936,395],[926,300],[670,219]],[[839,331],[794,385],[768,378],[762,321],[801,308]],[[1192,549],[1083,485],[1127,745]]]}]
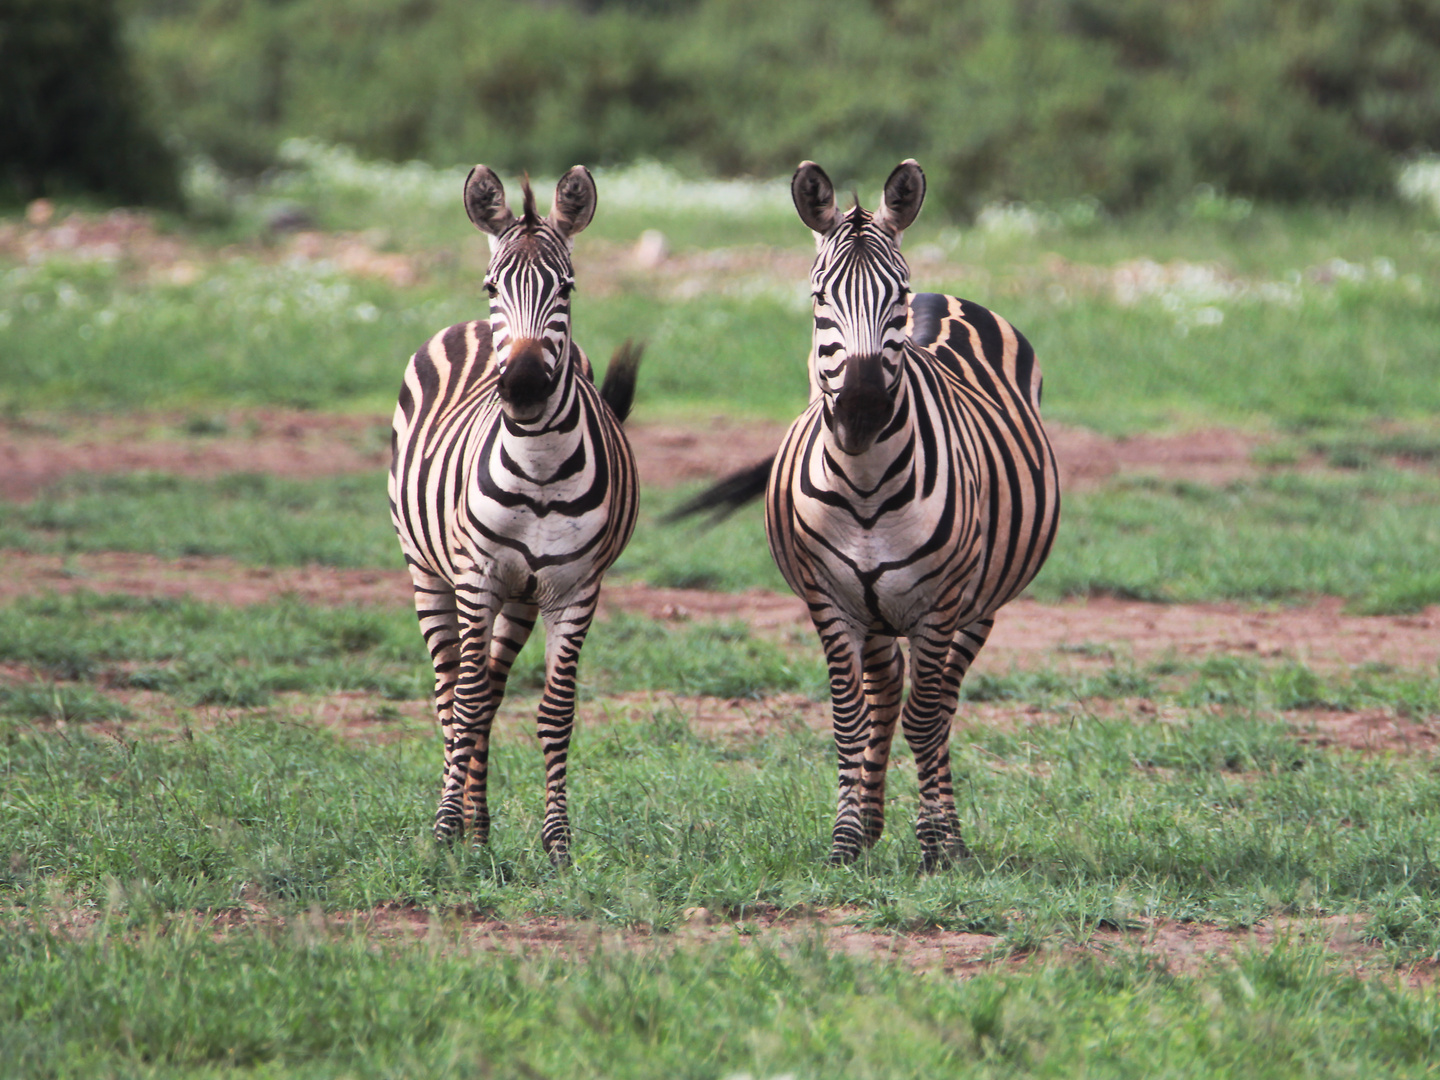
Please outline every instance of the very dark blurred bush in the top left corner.
[{"label": "very dark blurred bush in the top left corner", "polygon": [[177,203],[138,91],[115,0],[0,0],[0,200]]}]

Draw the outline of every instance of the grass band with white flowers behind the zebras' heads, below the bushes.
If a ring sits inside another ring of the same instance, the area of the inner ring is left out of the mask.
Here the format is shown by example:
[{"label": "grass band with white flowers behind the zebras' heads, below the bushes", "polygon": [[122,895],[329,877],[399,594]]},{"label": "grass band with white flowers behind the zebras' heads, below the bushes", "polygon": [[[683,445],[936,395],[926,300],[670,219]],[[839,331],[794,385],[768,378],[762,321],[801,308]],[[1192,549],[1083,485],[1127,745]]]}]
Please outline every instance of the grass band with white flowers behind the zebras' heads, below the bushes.
[{"label": "grass band with white flowers behind the zebras' heads, below the bushes", "polygon": [[[370,225],[387,220],[374,204],[370,213],[380,215]],[[12,410],[215,403],[387,410],[406,357],[433,331],[484,312],[481,264],[472,264],[480,242],[458,199],[446,213],[454,239],[436,248],[422,232],[416,243],[431,246],[413,251],[448,255],[433,261],[429,284],[412,288],[350,278],[324,261],[256,256],[203,262],[202,278],[189,285],[68,259],[13,265],[0,274],[0,402]],[[776,233],[770,210],[756,213],[671,232],[681,249],[763,238],[806,251],[798,222]],[[621,220],[632,219],[622,212]],[[361,209],[334,220],[364,226]],[[746,220],[763,228],[756,233]],[[634,242],[629,225],[596,228],[590,243]],[[1436,245],[1417,243],[1414,233],[1416,219],[1398,212],[1297,210],[1266,212],[1243,226],[1152,215],[1018,236],[959,233],[936,222],[912,230],[910,248],[949,259],[940,269],[917,261],[916,288],[953,289],[1027,333],[1047,373],[1054,419],[1115,432],[1175,423],[1354,426],[1440,410],[1437,300],[1424,284],[1440,265]],[[579,340],[600,361],[625,337],[651,346],[638,418],[799,412],[809,334],[796,302],[802,275],[765,284],[737,274],[719,291],[685,300],[648,285],[589,295],[585,256],[582,243]],[[1202,279],[1120,304],[1106,275],[1136,256],[1194,264]],[[1333,259],[1339,276],[1326,269]],[[1081,269],[1067,271],[1068,264]],[[667,271],[661,284],[674,285],[677,275],[683,271]]]}]

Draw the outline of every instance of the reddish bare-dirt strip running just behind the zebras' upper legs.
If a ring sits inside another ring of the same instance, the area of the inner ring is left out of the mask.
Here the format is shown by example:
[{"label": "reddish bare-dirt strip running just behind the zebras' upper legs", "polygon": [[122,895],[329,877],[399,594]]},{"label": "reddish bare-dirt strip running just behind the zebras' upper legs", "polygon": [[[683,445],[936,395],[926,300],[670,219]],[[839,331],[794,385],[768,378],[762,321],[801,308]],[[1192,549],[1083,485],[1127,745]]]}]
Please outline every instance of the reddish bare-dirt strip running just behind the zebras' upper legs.
[{"label": "reddish bare-dirt strip running just behind the zebras' upper legs", "polygon": [[[193,596],[212,603],[264,603],[294,596],[305,603],[409,606],[403,570],[323,566],[251,567],[229,559],[166,560],[148,554],[32,554],[0,550],[0,602],[42,592],[121,592]],[[1440,664],[1440,606],[1417,615],[1345,615],[1345,602],[1322,598],[1293,608],[1238,603],[1146,603],[1090,598],[1066,603],[1020,599],[1008,605],[975,671],[1060,665],[1071,670],[1136,664],[1164,657],[1240,655],[1287,658],[1316,670],[1385,664]],[[760,634],[806,632],[805,606],[783,593],[752,589],[717,593],[613,582],[600,615],[634,612],[667,622],[743,619]]]}]

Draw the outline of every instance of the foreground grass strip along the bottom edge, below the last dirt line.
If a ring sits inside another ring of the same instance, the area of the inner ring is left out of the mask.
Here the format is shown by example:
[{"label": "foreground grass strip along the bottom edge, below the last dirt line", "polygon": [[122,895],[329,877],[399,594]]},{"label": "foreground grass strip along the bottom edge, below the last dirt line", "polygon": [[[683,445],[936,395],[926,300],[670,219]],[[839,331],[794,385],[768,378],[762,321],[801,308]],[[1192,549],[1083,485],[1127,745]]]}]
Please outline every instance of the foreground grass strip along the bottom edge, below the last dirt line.
[{"label": "foreground grass strip along the bottom edge, below the last dirt line", "polygon": [[0,930],[33,1077],[1427,1076],[1440,1017],[1316,948],[950,979],[815,945],[485,953],[307,929]]}]

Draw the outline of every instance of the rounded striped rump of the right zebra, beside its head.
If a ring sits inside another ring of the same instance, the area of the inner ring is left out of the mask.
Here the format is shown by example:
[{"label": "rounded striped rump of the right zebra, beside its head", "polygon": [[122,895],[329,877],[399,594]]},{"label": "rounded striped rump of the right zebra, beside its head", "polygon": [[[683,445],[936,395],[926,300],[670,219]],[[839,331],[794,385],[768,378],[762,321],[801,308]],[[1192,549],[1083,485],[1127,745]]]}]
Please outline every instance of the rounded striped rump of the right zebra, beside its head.
[{"label": "rounded striped rump of the right zebra, beside its head", "polygon": [[963,382],[973,383],[976,366],[984,364],[1038,406],[1041,376],[1035,350],[989,308],[942,292],[917,292],[910,298],[906,333],[912,344]]}]

